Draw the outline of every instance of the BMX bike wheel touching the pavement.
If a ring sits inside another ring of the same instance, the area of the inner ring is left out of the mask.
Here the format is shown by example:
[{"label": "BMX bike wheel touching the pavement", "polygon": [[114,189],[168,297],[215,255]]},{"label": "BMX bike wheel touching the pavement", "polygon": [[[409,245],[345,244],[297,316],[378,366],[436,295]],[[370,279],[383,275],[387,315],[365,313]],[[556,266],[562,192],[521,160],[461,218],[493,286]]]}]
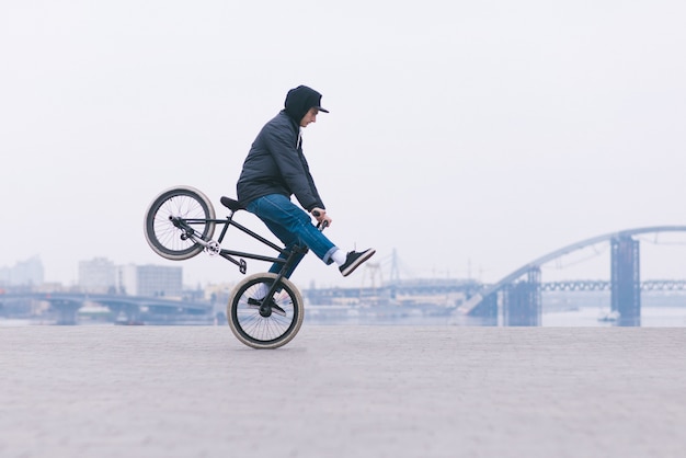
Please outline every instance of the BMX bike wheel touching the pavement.
[{"label": "BMX bike wheel touching the pavement", "polygon": [[249,305],[248,299],[260,291],[260,285],[267,287],[276,279],[276,274],[253,274],[240,282],[231,291],[227,307],[227,319],[233,335],[253,348],[278,348],[290,342],[302,325],[305,310],[302,296],[287,278],[281,279],[281,288],[274,294],[274,302],[285,311],[285,316],[273,312],[270,317],[260,314],[259,306]]}]

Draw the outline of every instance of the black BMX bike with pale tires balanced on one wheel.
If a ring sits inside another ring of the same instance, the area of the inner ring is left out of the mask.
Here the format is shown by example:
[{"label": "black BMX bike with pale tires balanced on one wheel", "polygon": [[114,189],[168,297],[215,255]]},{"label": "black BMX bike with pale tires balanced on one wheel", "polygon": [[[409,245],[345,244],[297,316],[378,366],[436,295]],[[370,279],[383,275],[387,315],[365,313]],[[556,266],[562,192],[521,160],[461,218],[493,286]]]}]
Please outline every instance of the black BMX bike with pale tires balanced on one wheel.
[{"label": "black BMX bike with pale tires balanced on one wheel", "polygon": [[[227,320],[236,337],[253,348],[277,348],[290,342],[302,325],[305,310],[298,288],[286,278],[298,254],[307,247],[288,251],[233,220],[242,209],[229,197],[221,197],[229,213],[225,219],[215,216],[215,208],[205,194],[195,187],[175,186],[160,193],[150,204],[145,217],[145,234],[157,254],[168,260],[187,260],[205,251],[236,264],[245,274],[245,259],[281,264],[278,274],[259,273],[238,283],[229,296]],[[265,255],[221,248],[229,227],[259,240],[275,250]],[[221,228],[217,240],[215,229]],[[323,230],[320,226],[320,230]],[[266,291],[266,294],[265,294]]]}]

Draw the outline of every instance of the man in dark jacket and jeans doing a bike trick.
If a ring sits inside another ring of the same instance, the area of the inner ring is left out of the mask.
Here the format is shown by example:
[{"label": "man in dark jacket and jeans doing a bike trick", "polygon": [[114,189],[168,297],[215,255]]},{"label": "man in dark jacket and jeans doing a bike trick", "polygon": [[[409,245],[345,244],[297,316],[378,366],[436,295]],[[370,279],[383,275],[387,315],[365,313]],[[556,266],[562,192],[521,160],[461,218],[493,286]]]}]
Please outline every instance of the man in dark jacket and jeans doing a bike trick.
[{"label": "man in dark jacket and jeans doing a bike trick", "polygon": [[[288,91],[284,110],[264,125],[250,148],[237,184],[238,199],[264,221],[287,250],[305,245],[324,263],[335,263],[347,276],[376,250],[345,253],[312,224],[311,217],[320,225],[332,222],[302,153],[301,129],[315,123],[320,112],[329,113],[320,103],[321,94],[306,85]],[[291,195],[301,208],[290,202]],[[286,277],[304,255],[290,266]],[[274,263],[270,272],[278,273],[281,267]]]}]

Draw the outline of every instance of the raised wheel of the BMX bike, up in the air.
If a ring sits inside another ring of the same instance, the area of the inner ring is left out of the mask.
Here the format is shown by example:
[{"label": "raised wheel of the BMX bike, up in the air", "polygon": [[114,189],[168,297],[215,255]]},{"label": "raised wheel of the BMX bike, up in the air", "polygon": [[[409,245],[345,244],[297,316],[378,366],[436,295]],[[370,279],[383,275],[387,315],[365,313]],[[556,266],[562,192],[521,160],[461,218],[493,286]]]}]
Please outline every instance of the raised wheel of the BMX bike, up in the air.
[{"label": "raised wheel of the BMX bike, up in the air", "polygon": [[[205,194],[195,187],[176,186],[158,195],[146,211],[145,234],[148,244],[157,254],[172,261],[195,256],[204,247],[192,240],[182,239],[182,230],[170,221],[171,216],[185,219],[215,219],[215,208]],[[194,224],[193,228],[209,240],[215,233],[215,222]]]}]

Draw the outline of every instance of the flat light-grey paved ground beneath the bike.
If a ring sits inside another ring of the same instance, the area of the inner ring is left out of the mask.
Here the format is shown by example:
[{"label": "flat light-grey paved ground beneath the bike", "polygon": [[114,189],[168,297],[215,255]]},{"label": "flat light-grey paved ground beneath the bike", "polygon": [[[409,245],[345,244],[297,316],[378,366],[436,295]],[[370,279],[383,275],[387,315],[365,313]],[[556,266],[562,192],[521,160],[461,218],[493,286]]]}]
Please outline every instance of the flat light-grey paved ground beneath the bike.
[{"label": "flat light-grey paved ground beneath the bike", "polygon": [[0,328],[0,456],[684,457],[686,329]]}]

